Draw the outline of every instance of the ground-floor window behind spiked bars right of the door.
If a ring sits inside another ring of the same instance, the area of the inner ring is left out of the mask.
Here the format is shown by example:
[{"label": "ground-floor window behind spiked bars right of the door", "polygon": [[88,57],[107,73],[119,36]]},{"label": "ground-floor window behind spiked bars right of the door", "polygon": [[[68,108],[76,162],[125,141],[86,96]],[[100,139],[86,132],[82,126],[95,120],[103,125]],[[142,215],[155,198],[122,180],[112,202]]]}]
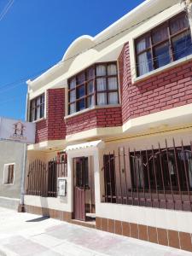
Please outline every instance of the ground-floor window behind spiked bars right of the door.
[{"label": "ground-floor window behind spiked bars right of the door", "polygon": [[130,160],[134,189],[192,190],[190,146],[131,152]]}]

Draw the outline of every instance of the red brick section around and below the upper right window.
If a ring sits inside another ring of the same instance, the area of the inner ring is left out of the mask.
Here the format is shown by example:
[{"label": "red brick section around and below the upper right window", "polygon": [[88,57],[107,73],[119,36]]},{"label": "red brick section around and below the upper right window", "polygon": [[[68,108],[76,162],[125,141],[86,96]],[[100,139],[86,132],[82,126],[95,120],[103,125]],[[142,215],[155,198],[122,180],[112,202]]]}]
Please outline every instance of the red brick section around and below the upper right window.
[{"label": "red brick section around and below the upper right window", "polygon": [[129,44],[125,44],[119,55],[119,74],[123,123],[192,103],[192,61],[132,84]]}]

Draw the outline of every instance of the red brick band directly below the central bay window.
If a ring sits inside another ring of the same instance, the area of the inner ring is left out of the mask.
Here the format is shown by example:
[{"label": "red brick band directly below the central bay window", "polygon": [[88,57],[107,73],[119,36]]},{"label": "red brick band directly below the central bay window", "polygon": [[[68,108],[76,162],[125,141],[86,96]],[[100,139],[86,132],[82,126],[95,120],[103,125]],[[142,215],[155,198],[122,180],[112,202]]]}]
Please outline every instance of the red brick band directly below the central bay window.
[{"label": "red brick band directly below the central bay window", "polygon": [[99,108],[66,119],[67,135],[93,128],[121,126],[121,108]]}]

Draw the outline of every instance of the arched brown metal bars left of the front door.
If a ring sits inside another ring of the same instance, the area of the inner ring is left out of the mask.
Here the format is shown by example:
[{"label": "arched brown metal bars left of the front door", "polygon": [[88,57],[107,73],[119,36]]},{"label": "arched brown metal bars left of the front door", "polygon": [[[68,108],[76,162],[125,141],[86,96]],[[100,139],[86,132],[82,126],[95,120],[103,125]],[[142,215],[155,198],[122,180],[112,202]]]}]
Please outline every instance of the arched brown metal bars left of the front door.
[{"label": "arched brown metal bars left of the front door", "polygon": [[26,195],[56,197],[58,177],[67,177],[66,154],[48,163],[34,160],[28,167]]}]

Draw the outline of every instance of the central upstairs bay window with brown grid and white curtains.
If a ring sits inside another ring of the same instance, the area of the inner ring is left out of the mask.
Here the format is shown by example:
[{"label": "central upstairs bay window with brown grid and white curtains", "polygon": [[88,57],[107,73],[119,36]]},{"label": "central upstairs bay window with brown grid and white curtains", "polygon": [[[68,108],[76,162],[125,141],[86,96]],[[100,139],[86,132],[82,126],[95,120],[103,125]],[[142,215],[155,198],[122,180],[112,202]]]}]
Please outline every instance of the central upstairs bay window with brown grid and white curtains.
[{"label": "central upstairs bay window with brown grid and white curtains", "polygon": [[119,103],[116,62],[96,64],[68,80],[68,114]]}]

